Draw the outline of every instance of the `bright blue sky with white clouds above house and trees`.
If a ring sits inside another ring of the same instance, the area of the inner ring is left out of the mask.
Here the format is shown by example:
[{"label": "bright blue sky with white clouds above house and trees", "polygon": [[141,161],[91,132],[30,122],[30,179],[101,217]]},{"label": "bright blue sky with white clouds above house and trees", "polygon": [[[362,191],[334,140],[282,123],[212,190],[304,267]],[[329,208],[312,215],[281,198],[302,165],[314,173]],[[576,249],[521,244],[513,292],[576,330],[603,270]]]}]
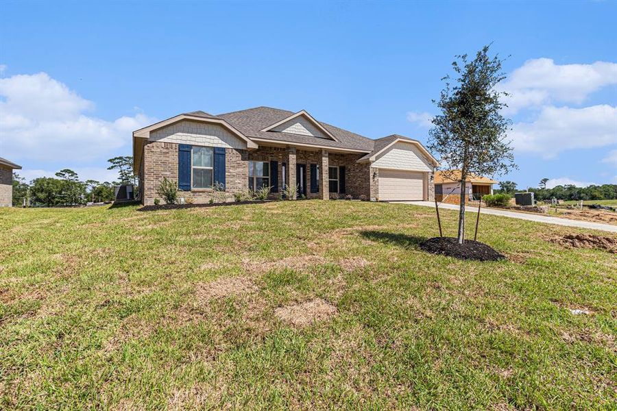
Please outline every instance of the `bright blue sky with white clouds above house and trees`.
[{"label": "bright blue sky with white clouds above house and trees", "polygon": [[520,166],[498,179],[617,184],[616,20],[611,1],[3,2],[0,156],[112,179],[133,129],[257,105],[425,142],[454,55],[493,42]]}]

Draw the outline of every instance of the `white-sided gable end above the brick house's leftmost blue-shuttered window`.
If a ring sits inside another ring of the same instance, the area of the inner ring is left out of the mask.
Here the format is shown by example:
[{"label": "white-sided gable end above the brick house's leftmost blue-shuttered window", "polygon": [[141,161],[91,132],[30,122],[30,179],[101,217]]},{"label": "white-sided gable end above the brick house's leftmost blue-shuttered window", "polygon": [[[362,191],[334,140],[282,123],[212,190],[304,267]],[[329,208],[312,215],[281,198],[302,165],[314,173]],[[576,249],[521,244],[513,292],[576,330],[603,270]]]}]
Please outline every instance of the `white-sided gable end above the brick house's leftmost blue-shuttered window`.
[{"label": "white-sided gable end above the brick house's leftmost blue-shuttered window", "polygon": [[225,149],[246,149],[246,142],[218,124],[183,120],[150,133],[151,141]]}]

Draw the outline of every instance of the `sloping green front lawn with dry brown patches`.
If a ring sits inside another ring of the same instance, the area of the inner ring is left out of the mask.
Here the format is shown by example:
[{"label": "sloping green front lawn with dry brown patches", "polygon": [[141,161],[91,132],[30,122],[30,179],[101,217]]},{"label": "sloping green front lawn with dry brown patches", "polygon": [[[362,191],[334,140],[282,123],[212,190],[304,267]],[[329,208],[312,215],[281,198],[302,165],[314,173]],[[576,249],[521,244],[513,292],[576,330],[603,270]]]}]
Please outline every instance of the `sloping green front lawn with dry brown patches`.
[{"label": "sloping green front lawn with dry brown patches", "polygon": [[0,209],[0,408],[614,409],[617,258],[576,232],[483,216],[480,263],[401,204]]}]

